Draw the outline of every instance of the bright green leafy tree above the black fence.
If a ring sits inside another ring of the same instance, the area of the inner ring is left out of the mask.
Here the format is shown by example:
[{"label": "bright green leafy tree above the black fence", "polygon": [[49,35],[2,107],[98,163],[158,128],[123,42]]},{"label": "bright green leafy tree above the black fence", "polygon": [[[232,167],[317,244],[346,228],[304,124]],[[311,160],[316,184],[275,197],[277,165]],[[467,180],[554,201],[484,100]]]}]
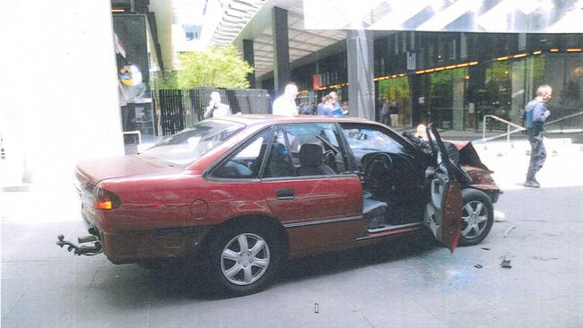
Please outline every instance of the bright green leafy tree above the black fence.
[{"label": "bright green leafy tree above the black fence", "polygon": [[237,48],[209,47],[205,51],[182,53],[177,82],[181,89],[194,87],[248,88],[247,75],[253,67],[241,59]]}]

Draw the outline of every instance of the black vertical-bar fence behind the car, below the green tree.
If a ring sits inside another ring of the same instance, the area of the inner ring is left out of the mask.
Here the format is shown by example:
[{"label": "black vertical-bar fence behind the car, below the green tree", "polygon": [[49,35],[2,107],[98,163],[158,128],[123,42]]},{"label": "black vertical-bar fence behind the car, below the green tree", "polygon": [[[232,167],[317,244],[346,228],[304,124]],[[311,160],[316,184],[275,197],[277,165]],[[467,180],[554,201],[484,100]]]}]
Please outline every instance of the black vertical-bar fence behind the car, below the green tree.
[{"label": "black vertical-bar fence behind the car, below the green tree", "polygon": [[161,90],[158,91],[161,134],[176,134],[203,120],[204,109],[208,106],[213,91],[221,94],[222,103],[229,105],[233,114],[271,113],[269,93],[265,90],[217,90],[214,88]]}]

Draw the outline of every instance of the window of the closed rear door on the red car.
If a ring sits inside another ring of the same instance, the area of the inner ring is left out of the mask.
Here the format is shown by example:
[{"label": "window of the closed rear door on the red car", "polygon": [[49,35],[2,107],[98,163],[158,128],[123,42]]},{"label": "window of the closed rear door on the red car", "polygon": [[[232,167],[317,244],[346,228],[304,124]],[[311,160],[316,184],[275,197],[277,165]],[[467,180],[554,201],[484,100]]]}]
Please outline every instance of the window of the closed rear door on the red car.
[{"label": "window of the closed rear door on the red car", "polygon": [[[274,143],[277,144],[272,145],[272,148],[275,151],[275,148],[281,148],[280,144],[286,146],[287,153],[282,160],[292,164],[289,176],[335,175],[346,170],[344,153],[339,141],[340,135],[335,124],[284,125],[276,134]],[[270,159],[267,168],[272,161],[275,160]],[[284,166],[287,164],[282,167]],[[267,170],[265,172],[275,177],[274,172]],[[278,174],[278,177],[283,177],[284,172],[281,174]]]}]

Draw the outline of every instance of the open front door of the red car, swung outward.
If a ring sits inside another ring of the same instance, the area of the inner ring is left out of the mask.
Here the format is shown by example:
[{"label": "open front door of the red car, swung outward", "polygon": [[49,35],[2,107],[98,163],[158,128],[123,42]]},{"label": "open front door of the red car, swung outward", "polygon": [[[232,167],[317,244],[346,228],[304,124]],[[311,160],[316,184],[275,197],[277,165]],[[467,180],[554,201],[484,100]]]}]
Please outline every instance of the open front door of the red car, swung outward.
[{"label": "open front door of the red car, swung outward", "polygon": [[425,208],[423,223],[453,253],[462,225],[462,189],[454,174],[456,164],[449,159],[448,151],[433,125],[427,127],[427,137],[436,154],[437,168],[430,177],[431,200]]}]

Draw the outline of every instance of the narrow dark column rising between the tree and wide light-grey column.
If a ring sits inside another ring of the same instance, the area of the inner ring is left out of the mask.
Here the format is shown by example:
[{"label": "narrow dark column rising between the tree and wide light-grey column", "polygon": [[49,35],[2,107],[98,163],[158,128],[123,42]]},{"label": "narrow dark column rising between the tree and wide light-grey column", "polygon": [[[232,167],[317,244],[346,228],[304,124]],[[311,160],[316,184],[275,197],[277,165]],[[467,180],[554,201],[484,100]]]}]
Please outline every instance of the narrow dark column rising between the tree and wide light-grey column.
[{"label": "narrow dark column rising between the tree and wide light-grey column", "polygon": [[290,43],[288,39],[287,10],[274,7],[272,17],[274,33],[274,89],[275,94],[283,93],[285,84],[290,82]]}]

